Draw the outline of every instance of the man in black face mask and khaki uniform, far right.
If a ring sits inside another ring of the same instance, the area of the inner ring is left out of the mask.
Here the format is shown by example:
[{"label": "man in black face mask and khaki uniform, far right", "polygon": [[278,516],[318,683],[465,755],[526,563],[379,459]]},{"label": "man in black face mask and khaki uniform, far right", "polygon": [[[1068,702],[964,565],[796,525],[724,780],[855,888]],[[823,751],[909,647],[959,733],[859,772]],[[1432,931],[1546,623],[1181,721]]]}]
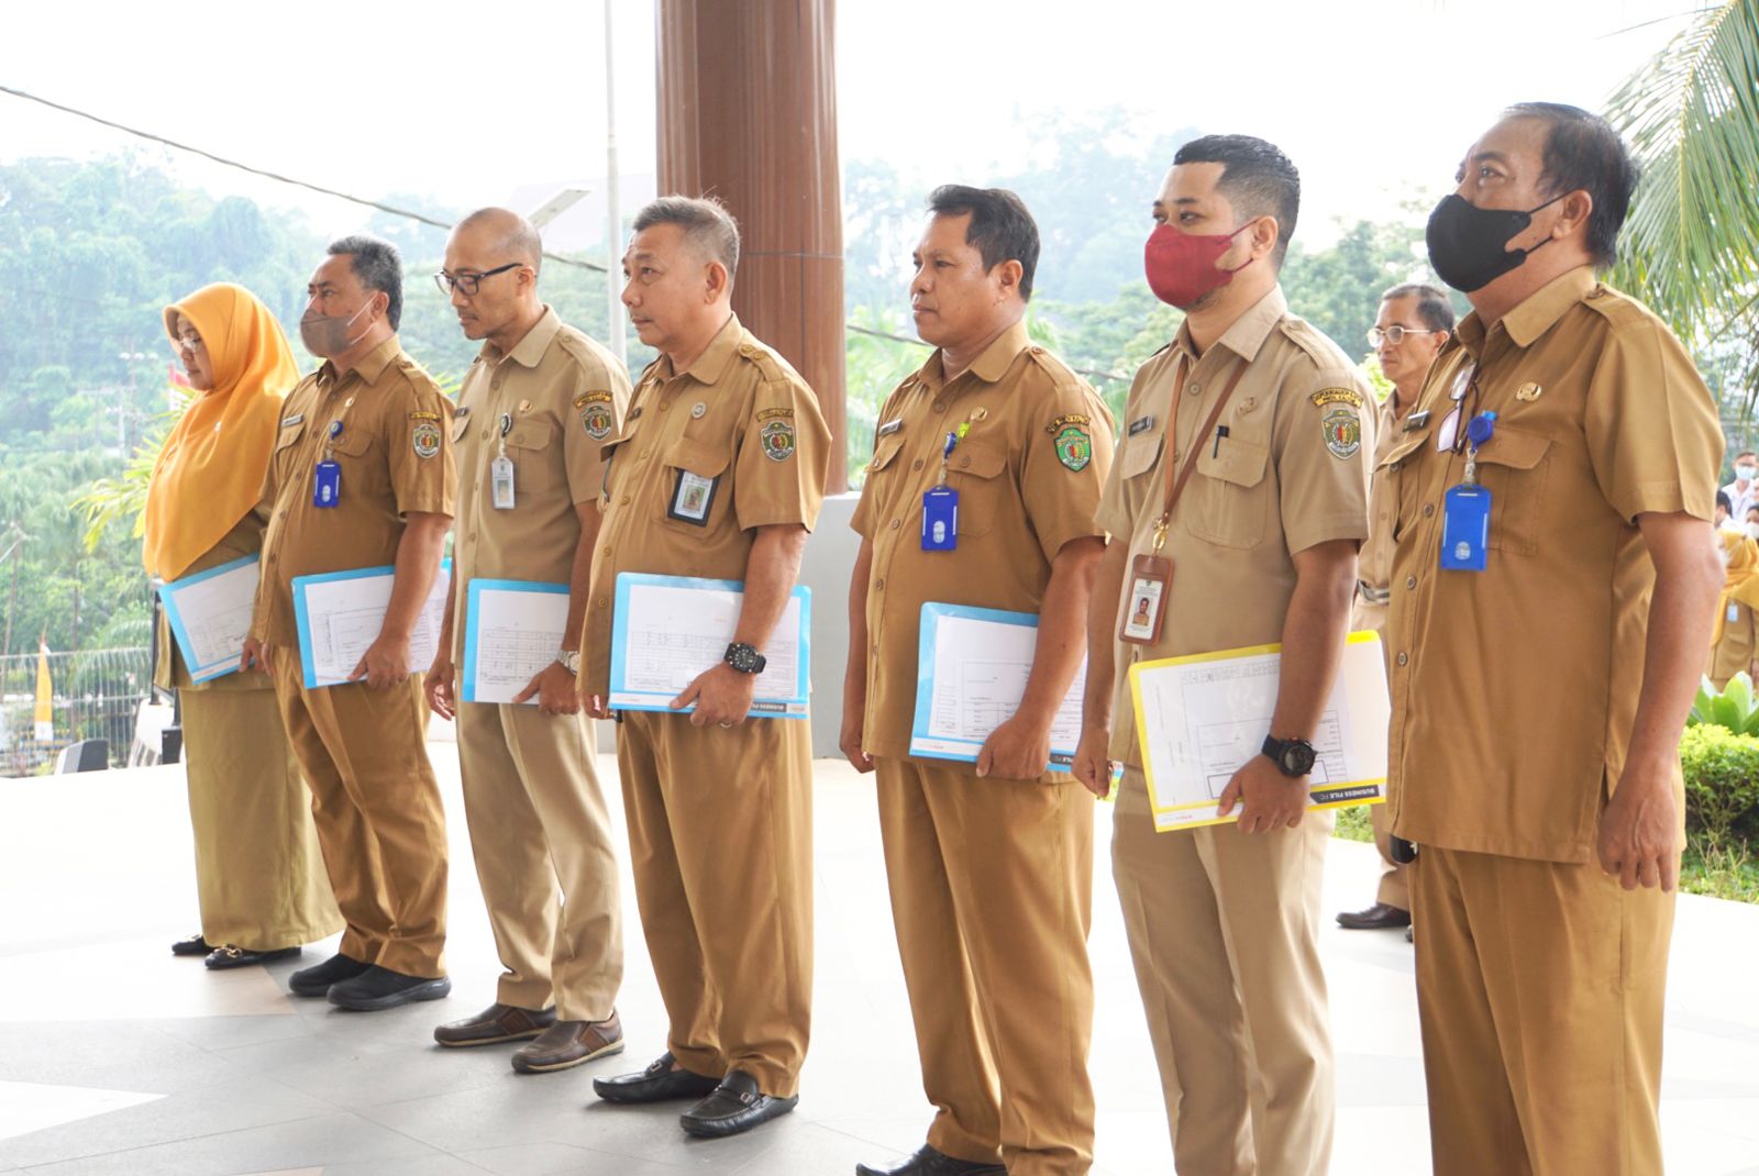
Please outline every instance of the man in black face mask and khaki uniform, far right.
[{"label": "man in black face mask and khaki uniform, far right", "polygon": [[1435,1172],[1657,1176],[1722,432],[1673,332],[1595,279],[1636,186],[1604,120],[1516,105],[1458,183],[1430,260],[1474,311],[1381,457]]}]

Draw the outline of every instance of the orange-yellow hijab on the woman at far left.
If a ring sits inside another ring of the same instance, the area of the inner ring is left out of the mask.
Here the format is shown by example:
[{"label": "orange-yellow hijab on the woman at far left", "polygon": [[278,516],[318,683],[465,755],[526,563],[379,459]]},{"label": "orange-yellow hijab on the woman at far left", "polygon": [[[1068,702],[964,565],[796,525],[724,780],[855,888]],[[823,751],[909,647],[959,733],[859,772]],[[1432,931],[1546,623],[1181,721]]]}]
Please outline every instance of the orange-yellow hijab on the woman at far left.
[{"label": "orange-yellow hijab on the woman at far left", "polygon": [[176,334],[178,315],[202,336],[215,387],[190,403],[165,438],[146,490],[141,559],[167,580],[257,505],[281,399],[299,381],[281,325],[245,287],[218,281],[167,306],[167,334]]}]

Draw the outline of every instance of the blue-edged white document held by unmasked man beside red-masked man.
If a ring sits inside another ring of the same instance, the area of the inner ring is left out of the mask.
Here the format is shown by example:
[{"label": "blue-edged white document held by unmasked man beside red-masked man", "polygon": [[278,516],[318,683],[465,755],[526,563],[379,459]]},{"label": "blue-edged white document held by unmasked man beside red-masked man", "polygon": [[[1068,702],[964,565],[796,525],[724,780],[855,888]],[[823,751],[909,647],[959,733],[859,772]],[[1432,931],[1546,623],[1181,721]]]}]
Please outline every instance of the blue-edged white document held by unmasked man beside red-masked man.
[{"label": "blue-edged white document held by unmasked man beside red-masked man", "polygon": [[[983,742],[1020,708],[1038,652],[1038,617],[925,603],[916,649],[916,717],[909,754],[974,763]],[[1082,735],[1087,661],[1050,724],[1052,772],[1068,772]]]}]

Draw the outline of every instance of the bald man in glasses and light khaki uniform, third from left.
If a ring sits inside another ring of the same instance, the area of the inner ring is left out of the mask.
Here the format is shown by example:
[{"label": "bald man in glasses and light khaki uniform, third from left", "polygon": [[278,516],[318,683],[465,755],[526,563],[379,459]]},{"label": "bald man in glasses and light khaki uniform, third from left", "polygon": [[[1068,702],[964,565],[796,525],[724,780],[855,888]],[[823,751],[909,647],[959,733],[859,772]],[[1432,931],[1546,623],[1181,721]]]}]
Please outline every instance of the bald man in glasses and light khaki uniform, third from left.
[{"label": "bald man in glasses and light khaki uniform, third from left", "polygon": [[[457,763],[477,879],[501,979],[494,1004],[442,1025],[442,1046],[528,1041],[524,1074],[623,1051],[616,1014],[623,928],[610,816],[593,768],[593,733],[575,691],[580,621],[598,538],[598,446],[623,420],[630,380],[600,345],[538,299],[542,241],[507,209],[452,229],[434,274],[482,352],[464,376],[457,445],[457,536],[427,705],[457,719]],[[464,701],[473,582],[565,592],[552,654],[512,700]]]}]

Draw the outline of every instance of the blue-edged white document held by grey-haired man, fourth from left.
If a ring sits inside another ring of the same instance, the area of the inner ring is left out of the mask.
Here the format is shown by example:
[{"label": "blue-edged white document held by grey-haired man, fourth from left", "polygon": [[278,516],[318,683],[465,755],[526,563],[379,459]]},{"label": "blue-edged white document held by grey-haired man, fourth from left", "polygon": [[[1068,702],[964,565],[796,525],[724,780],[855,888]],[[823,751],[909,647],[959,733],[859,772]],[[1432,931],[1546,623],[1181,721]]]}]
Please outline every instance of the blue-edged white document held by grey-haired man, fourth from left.
[{"label": "blue-edged white document held by grey-haired man, fourth from left", "polygon": [[[670,710],[670,701],[686,686],[726,656],[742,606],[742,585],[734,580],[621,573],[609,705],[614,710]],[[811,592],[795,587],[769,643],[758,650],[767,661],[756,680],[753,717],[806,717],[809,629]]]}]

